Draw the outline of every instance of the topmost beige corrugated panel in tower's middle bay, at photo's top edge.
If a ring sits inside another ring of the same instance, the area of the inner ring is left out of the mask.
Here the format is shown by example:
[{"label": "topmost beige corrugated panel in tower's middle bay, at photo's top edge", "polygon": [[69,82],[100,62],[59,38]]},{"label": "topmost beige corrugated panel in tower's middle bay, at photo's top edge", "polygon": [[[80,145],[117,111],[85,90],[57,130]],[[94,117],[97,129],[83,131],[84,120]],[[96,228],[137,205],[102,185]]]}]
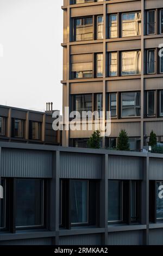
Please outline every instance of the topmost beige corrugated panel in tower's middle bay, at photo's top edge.
[{"label": "topmost beige corrugated panel in tower's middle bay, at photo's top edge", "polygon": [[107,5],[107,13],[117,13],[119,11],[141,10],[141,1],[123,2]]}]

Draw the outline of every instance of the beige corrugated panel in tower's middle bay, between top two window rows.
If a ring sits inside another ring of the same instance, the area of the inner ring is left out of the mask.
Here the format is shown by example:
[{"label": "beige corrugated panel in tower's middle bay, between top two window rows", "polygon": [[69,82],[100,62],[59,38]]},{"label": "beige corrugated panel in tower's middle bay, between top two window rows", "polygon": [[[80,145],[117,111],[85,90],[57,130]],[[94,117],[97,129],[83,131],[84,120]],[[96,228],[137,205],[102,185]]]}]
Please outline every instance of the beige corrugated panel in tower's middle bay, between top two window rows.
[{"label": "beige corrugated panel in tower's middle bay, between top two window rows", "polygon": [[141,48],[141,40],[128,40],[119,42],[108,42],[107,51],[136,50]]}]

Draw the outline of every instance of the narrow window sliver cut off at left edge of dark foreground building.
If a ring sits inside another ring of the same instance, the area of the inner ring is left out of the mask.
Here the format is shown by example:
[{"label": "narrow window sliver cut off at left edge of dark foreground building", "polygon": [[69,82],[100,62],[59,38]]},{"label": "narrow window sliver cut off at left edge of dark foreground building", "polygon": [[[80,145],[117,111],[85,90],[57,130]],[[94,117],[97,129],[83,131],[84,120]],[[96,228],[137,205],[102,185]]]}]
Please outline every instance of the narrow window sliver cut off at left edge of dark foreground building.
[{"label": "narrow window sliver cut off at left edge of dark foreground building", "polygon": [[[3,198],[0,199],[0,229],[5,228],[5,180],[1,179],[0,185],[2,186]],[[2,196],[2,195],[1,195]]]}]

